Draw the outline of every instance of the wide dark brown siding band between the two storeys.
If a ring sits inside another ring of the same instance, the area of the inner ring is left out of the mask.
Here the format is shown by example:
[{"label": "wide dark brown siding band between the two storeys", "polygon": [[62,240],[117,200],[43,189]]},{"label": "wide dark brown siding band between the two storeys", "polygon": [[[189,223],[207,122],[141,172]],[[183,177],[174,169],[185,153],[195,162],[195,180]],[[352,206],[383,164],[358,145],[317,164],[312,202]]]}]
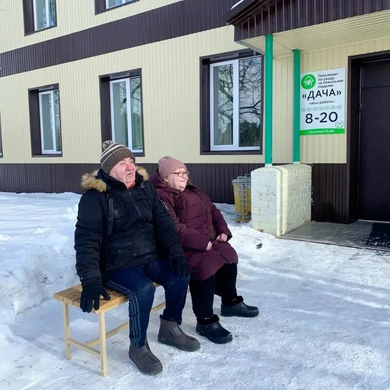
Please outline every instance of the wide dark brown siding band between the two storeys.
[{"label": "wide dark brown siding band between the two storeys", "polygon": [[222,27],[233,0],[185,0],[0,53],[0,77]]}]

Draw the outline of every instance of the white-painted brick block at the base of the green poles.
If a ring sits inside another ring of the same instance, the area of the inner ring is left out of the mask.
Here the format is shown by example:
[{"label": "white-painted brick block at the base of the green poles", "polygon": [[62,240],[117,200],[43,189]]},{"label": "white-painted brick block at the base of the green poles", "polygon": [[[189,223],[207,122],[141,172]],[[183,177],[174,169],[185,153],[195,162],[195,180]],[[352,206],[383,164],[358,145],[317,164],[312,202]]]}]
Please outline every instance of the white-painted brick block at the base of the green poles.
[{"label": "white-painted brick block at the base of the green poles", "polygon": [[312,167],[289,164],[252,171],[252,227],[279,236],[311,220]]}]

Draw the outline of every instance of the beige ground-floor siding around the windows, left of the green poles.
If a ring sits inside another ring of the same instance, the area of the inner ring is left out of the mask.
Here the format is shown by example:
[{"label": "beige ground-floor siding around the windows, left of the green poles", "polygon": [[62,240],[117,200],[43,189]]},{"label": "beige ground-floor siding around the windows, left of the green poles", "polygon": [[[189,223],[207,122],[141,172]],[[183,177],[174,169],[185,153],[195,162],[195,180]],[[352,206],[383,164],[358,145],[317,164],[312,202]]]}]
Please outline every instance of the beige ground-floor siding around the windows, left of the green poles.
[{"label": "beige ground-floor siding around the windows, left of the green poles", "polygon": [[[123,7],[126,8],[126,7]],[[170,39],[0,78],[1,162],[95,163],[101,150],[99,75],[142,69],[145,157],[188,163],[263,162],[263,156],[200,156],[199,58],[243,47],[234,28]],[[59,83],[63,157],[31,157],[29,88]],[[287,125],[286,125],[287,126]],[[283,140],[281,140],[283,142]]]}]

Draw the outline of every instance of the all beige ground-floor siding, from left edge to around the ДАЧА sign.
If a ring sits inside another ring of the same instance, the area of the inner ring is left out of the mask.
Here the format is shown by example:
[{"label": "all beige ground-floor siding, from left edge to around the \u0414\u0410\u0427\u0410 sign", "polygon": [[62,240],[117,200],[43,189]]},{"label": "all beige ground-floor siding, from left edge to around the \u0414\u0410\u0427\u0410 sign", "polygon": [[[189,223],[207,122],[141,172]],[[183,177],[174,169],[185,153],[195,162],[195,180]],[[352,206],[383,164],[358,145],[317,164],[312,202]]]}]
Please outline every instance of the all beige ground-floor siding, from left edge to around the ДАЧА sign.
[{"label": "all beige ground-floor siding, from left edge to around the \u0414\u0410\u0427\u0410 sign", "polygon": [[[234,42],[234,29],[229,26],[0,78],[4,154],[0,162],[98,161],[101,138],[98,77],[141,68],[146,156],[139,157],[139,162],[156,162],[162,155],[174,155],[189,163],[262,163],[264,156],[199,153],[199,57],[241,48]],[[304,50],[301,68],[302,72],[309,72],[345,67],[348,78],[349,56],[383,50],[390,50],[390,36]],[[292,54],[276,57],[273,70],[273,162],[292,162]],[[27,90],[57,82],[63,157],[33,158]],[[301,137],[301,161],[305,163],[345,163],[346,149],[347,133]]]}]

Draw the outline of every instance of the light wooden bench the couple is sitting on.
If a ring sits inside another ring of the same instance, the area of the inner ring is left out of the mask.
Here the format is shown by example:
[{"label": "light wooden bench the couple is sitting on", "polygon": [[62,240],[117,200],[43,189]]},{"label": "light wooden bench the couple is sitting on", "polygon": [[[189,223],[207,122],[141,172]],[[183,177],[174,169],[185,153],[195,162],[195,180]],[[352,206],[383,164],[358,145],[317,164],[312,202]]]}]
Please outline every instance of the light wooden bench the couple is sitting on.
[{"label": "light wooden bench the couple is sitting on", "polygon": [[[159,284],[154,283],[155,287],[158,287]],[[88,353],[92,353],[95,356],[100,357],[100,372],[103,376],[107,375],[107,348],[106,348],[106,340],[108,337],[117,334],[129,327],[129,321],[119,325],[117,328],[112,329],[111,331],[106,332],[106,323],[105,323],[105,313],[110,311],[111,309],[117,308],[123,303],[128,302],[129,298],[127,295],[123,295],[120,292],[115,290],[106,289],[110,294],[111,299],[106,301],[102,297],[100,297],[100,308],[99,310],[92,309],[92,312],[98,315],[99,319],[99,337],[87,342],[82,343],[70,336],[70,324],[69,324],[69,305],[76,306],[80,308],[80,295],[81,295],[81,284],[77,286],[73,286],[70,289],[66,289],[64,291],[56,292],[54,294],[54,298],[62,302],[63,307],[63,320],[64,320],[64,329],[65,329],[65,357],[70,359],[72,357],[70,347],[74,346],[80,348]],[[151,313],[156,312],[157,310],[163,308],[165,306],[165,302],[160,303],[152,308]],[[100,351],[92,348],[95,345],[100,344]]]}]

